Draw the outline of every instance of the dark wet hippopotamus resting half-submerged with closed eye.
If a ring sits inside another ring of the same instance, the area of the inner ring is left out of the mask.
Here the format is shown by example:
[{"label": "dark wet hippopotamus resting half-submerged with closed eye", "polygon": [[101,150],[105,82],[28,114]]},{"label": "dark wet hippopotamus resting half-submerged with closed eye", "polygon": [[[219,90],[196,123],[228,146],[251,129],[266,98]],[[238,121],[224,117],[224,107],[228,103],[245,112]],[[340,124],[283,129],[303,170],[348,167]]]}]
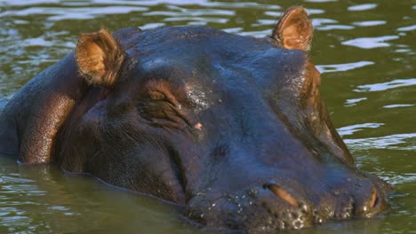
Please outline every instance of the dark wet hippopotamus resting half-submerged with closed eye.
[{"label": "dark wet hippopotamus resting half-submerged with closed eye", "polygon": [[82,34],[0,115],[0,154],[162,199],[212,230],[372,217],[390,185],[356,168],[319,93],[302,7],[266,38],[211,27]]}]

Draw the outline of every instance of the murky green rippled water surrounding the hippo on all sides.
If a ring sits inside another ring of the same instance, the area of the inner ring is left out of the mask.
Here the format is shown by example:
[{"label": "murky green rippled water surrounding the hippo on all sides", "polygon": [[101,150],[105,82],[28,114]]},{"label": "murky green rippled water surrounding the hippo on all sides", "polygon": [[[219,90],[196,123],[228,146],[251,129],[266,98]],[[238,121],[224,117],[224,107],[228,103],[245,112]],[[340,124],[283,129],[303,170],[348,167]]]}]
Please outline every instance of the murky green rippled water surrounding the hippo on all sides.
[{"label": "murky green rippled water surrounding the hippo on all sides", "polygon": [[[284,8],[313,19],[312,57],[332,121],[358,166],[394,184],[371,220],[300,233],[416,233],[416,1],[0,0],[0,109],[25,82],[100,27],[208,25],[269,35]],[[0,233],[196,233],[173,207],[92,177],[0,158]]]}]

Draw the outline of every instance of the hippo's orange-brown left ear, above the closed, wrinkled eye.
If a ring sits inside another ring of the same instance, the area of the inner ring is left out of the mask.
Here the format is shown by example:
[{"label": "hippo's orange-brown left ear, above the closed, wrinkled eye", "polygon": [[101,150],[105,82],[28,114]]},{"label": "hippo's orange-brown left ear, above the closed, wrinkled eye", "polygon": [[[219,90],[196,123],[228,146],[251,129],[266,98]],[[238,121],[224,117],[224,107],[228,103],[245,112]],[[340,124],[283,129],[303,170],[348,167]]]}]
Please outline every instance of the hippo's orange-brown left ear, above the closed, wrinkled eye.
[{"label": "hippo's orange-brown left ear, above the closed, wrinkled eye", "polygon": [[112,87],[124,61],[124,51],[105,29],[83,34],[76,44],[76,63],[86,82]]}]

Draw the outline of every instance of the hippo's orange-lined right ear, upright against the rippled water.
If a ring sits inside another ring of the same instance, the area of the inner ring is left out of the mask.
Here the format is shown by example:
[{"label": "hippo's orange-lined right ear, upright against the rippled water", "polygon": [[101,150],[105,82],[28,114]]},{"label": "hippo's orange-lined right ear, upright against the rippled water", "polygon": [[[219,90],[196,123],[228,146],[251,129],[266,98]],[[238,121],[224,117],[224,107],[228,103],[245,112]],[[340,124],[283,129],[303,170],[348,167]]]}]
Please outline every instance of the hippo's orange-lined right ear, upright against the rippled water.
[{"label": "hippo's orange-lined right ear, upright against the rippled water", "polygon": [[296,6],[284,12],[275,28],[272,38],[284,49],[308,51],[312,41],[313,27],[308,19],[308,13],[301,6]]}]

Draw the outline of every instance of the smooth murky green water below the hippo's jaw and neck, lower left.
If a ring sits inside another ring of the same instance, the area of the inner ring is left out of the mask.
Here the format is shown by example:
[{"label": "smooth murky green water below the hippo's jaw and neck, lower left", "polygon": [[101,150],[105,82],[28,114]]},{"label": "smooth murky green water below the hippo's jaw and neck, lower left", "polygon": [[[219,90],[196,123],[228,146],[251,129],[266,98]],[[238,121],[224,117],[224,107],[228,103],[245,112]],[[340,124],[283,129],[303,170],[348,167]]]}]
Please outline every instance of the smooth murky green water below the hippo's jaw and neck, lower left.
[{"label": "smooth murky green water below the hippo's jaw and neck, lower left", "polygon": [[[196,233],[172,207],[53,166],[0,158],[0,233]],[[125,223],[125,224],[124,224]]]}]

